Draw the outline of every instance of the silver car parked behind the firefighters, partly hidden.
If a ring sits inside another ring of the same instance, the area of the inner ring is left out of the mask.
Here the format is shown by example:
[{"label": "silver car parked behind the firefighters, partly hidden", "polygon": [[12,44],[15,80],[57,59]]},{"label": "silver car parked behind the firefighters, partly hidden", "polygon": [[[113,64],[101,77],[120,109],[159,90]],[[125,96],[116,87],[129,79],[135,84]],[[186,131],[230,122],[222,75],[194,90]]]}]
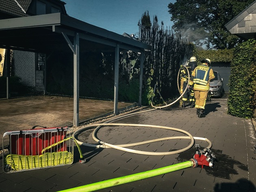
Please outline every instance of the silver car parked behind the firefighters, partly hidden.
[{"label": "silver car parked behind the firefighters, partly hidden", "polygon": [[225,93],[223,88],[223,79],[221,78],[218,71],[213,71],[215,76],[213,81],[210,81],[210,91],[213,97],[222,97]]}]

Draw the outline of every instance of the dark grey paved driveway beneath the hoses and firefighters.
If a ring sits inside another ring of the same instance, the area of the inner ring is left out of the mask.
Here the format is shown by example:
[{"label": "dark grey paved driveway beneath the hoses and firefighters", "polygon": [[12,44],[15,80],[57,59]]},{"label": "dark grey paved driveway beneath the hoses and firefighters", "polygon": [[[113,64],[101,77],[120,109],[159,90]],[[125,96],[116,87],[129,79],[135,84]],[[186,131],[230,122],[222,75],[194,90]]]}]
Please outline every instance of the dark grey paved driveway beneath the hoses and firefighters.
[{"label": "dark grey paved driveway beneath the hoses and firefighters", "polygon": [[[145,112],[118,120],[118,123],[162,125],[180,128],[193,136],[206,137],[212,143],[217,161],[213,168],[186,168],[173,173],[126,183],[100,192],[255,192],[256,191],[256,138],[251,120],[227,114],[227,98],[206,103],[206,117],[198,118],[194,108],[169,107]],[[78,138],[93,142],[92,130]],[[160,136],[176,136],[165,129],[143,127],[103,127],[97,136],[105,142],[122,144],[150,140]],[[202,147],[206,143],[196,141]],[[189,144],[188,140],[169,140],[133,149],[147,151],[174,151]],[[72,165],[6,174],[0,170],[0,191],[59,191],[139,173],[154,168],[184,162],[193,157],[195,148],[176,155],[150,156],[118,151],[81,147],[87,159],[78,163],[78,153]]]}]

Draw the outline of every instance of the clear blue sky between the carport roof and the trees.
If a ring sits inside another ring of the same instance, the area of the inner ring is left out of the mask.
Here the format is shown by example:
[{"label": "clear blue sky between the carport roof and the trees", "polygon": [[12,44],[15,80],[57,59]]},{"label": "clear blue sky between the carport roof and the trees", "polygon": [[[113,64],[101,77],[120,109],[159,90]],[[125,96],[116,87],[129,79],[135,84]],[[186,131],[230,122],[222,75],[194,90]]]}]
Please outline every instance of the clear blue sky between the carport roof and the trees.
[{"label": "clear blue sky between the carport roof and the trees", "polygon": [[168,4],[176,0],[62,0],[66,3],[67,14],[89,24],[122,35],[124,32],[138,32],[138,21],[145,11],[149,11],[151,22],[153,16],[158,24],[172,26]]}]

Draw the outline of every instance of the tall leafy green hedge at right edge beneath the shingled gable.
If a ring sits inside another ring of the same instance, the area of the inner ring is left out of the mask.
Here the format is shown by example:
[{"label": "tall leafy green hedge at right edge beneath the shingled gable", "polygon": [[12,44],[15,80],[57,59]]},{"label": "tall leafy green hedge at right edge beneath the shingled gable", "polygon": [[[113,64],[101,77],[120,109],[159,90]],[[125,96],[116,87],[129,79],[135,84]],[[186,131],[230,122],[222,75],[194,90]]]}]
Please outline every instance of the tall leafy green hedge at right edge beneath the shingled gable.
[{"label": "tall leafy green hedge at right edge beneath the shingled gable", "polygon": [[234,49],[230,67],[228,113],[252,118],[256,108],[256,40],[245,41]]}]

